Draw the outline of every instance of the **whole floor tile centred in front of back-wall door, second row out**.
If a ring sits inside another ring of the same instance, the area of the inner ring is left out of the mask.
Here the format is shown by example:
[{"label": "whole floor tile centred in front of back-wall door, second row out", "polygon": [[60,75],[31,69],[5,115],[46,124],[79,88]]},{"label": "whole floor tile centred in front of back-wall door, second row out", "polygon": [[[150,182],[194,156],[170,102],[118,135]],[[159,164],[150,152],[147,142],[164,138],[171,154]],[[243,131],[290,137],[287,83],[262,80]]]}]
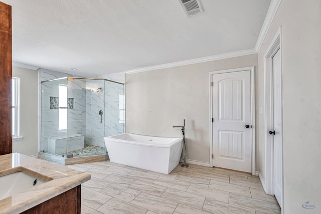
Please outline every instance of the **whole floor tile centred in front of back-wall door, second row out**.
[{"label": "whole floor tile centred in front of back-wall door, second row out", "polygon": [[211,180],[209,187],[251,197],[250,188],[245,186],[225,183],[218,180]]}]

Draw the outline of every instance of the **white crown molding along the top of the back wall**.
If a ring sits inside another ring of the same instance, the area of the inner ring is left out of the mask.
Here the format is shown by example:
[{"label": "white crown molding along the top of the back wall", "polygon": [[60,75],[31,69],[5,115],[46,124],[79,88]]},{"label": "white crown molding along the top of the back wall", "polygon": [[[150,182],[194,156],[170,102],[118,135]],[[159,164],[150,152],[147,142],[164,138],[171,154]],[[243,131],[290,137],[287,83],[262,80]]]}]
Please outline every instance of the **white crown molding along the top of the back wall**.
[{"label": "white crown molding along the top of the back wall", "polygon": [[257,54],[257,52],[253,48],[253,49],[248,49],[248,50],[243,50],[243,51],[235,51],[235,52],[230,52],[230,53],[225,53],[225,54],[213,55],[213,56],[209,56],[209,57],[201,57],[201,58],[196,58],[196,59],[192,59],[192,60],[184,60],[184,61],[179,61],[179,62],[174,62],[174,63],[167,63],[167,64],[162,64],[162,65],[143,67],[143,68],[128,70],[128,71],[124,71],[124,72],[126,74],[133,74],[133,73],[152,71],[152,70],[157,70],[157,69],[173,68],[173,67],[177,67],[177,66],[184,66],[184,65],[191,65],[191,64],[196,64],[196,63],[204,63],[204,62],[210,62],[210,61],[215,61],[215,60],[228,59],[228,58],[232,58],[232,57],[240,57],[240,56],[245,56],[245,55],[250,55],[250,54]]}]

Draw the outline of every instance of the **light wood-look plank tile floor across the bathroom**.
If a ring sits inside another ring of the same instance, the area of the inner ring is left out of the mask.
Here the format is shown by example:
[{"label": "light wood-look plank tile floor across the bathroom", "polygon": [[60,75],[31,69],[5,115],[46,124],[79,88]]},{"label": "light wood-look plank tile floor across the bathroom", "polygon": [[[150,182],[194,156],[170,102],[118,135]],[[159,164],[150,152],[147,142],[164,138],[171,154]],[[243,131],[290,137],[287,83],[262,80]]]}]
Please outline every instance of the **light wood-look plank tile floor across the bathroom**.
[{"label": "light wood-look plank tile floor across the bathroom", "polygon": [[103,162],[69,165],[91,173],[81,213],[281,213],[257,176],[190,164],[171,174]]}]

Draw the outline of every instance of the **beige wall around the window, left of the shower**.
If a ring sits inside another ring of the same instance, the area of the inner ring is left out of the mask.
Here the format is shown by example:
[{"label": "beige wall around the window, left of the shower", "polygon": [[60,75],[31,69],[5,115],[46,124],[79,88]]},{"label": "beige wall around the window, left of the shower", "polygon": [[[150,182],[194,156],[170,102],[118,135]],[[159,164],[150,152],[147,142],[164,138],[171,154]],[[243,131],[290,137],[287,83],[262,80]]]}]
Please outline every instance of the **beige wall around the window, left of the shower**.
[{"label": "beige wall around the window, left of the shower", "polygon": [[13,67],[13,77],[20,78],[20,136],[13,141],[13,152],[38,154],[38,71]]}]

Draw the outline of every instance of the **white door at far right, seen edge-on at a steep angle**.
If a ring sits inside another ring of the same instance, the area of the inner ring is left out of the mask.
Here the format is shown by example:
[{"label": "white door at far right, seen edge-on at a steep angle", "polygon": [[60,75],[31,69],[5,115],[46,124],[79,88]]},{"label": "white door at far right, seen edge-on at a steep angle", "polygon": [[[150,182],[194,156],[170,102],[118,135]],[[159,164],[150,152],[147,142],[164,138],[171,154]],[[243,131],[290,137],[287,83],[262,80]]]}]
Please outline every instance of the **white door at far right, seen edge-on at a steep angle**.
[{"label": "white door at far right, seen edge-on at a steep angle", "polygon": [[282,99],[281,58],[278,50],[273,63],[273,150],[274,150],[274,195],[282,207]]}]

